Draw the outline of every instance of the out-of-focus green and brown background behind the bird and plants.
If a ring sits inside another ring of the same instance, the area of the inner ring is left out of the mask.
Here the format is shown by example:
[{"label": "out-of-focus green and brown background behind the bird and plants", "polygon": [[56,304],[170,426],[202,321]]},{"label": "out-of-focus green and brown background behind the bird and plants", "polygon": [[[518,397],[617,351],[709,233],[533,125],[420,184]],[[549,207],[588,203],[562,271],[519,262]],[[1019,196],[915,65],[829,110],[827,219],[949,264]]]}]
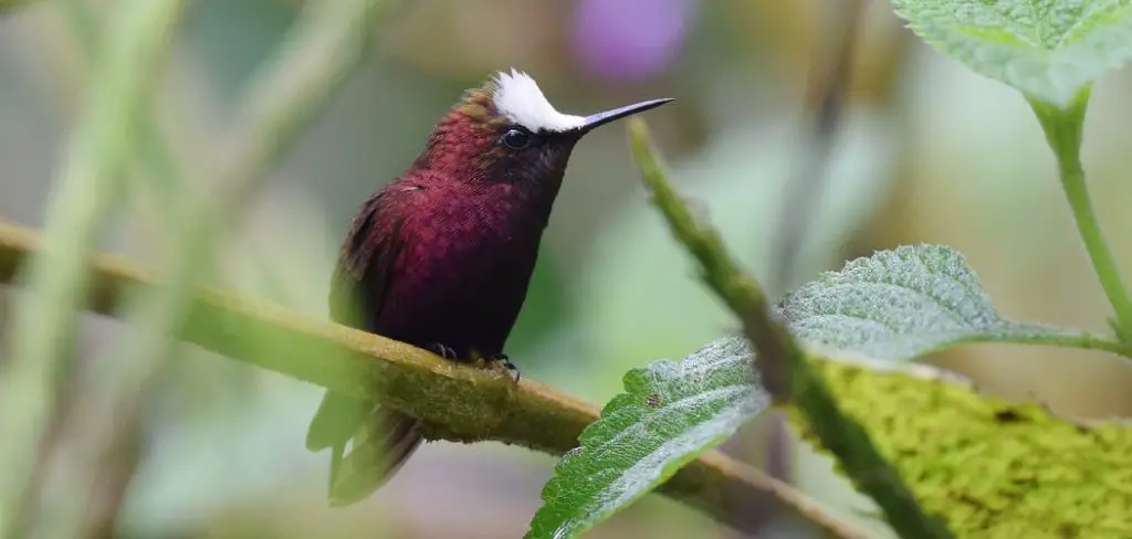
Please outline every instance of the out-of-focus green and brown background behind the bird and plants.
[{"label": "out-of-focus green and brown background behind the bird and plants", "polygon": [[[0,16],[0,218],[31,227],[42,226],[88,70],[53,3]],[[841,3],[410,0],[375,28],[362,69],[246,209],[218,285],[325,315],[337,243],[358,205],[409,164],[463,89],[515,67],[567,112],[676,97],[645,115],[674,180],[775,292],[876,249],[945,243],[967,254],[1003,313],[1104,331],[1104,296],[1026,102],[925,46],[883,0],[864,2],[834,151],[824,186],[809,193],[816,209],[804,216],[809,234],[795,271],[777,279],[779,209],[807,158],[799,148],[815,108],[807,82],[835,47]],[[217,133],[231,128],[249,75],[278,45],[298,5],[189,2],[158,114],[177,153],[197,167],[194,179],[209,181]],[[1130,92],[1126,70],[1096,86],[1084,148],[1097,211],[1124,268],[1132,268]],[[152,237],[143,223],[122,219],[102,247],[144,259]],[[12,294],[0,288],[0,305]],[[572,159],[511,357],[525,376],[604,402],[627,370],[681,357],[731,324],[648,206],[624,124],[590,134]],[[127,331],[88,316],[84,356]],[[1132,409],[1129,371],[1097,354],[978,346],[931,360],[987,392],[1078,417]],[[120,367],[106,363],[91,367]],[[428,444],[369,499],[328,508],[327,455],[303,449],[320,395],[190,349],[151,405],[117,537],[494,538],[526,530],[555,460],[495,443]],[[727,449],[835,506],[860,503],[773,418]],[[780,537],[800,530],[778,524]],[[728,533],[650,496],[590,537]]]}]

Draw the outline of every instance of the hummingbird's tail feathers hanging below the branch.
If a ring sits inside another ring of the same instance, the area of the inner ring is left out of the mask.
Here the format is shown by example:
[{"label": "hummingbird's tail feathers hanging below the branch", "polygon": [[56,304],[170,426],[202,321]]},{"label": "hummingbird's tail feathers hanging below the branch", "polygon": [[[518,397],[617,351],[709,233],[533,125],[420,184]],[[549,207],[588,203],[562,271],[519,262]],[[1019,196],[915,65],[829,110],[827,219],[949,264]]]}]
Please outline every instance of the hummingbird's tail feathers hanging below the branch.
[{"label": "hummingbird's tail feathers hanging below the branch", "polygon": [[[371,401],[327,392],[307,431],[307,449],[331,449],[331,505],[361,501],[393,477],[420,446],[419,426]],[[343,454],[348,442],[351,451]]]}]

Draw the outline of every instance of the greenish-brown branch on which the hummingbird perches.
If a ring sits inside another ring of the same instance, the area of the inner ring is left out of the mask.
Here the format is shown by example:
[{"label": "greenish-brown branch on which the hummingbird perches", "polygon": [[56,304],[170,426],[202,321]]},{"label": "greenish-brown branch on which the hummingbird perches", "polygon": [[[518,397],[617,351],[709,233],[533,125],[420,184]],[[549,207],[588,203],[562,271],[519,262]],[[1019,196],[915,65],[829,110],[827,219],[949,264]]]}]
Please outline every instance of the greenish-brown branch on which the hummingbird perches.
[{"label": "greenish-brown branch on which the hummingbird perches", "polygon": [[[35,233],[0,221],[0,282],[11,282],[37,250]],[[128,260],[100,255],[85,305],[118,315],[125,298],[154,284]],[[424,421],[430,440],[497,441],[558,455],[598,419],[597,407],[530,379],[516,385],[410,345],[220,290],[196,295],[179,338],[336,392],[378,398]],[[740,530],[757,527],[739,510],[762,495],[774,501],[773,513],[800,515],[835,537],[858,537],[791,486],[715,451],[659,492]]]}]

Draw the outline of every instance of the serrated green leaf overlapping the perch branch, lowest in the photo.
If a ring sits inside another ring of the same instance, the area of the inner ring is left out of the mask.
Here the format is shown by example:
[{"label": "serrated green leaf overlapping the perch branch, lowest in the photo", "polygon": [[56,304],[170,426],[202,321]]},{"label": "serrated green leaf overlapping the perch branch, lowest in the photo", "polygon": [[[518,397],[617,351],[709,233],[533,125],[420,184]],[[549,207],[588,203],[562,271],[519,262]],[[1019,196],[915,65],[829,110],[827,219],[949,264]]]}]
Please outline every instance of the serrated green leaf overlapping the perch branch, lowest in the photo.
[{"label": "serrated green leaf overlapping the perch branch, lowest in the photo", "polygon": [[577,537],[719,444],[770,399],[754,383],[751,349],[719,339],[680,362],[625,375],[625,393],[563,455],[542,490],[528,539]]}]

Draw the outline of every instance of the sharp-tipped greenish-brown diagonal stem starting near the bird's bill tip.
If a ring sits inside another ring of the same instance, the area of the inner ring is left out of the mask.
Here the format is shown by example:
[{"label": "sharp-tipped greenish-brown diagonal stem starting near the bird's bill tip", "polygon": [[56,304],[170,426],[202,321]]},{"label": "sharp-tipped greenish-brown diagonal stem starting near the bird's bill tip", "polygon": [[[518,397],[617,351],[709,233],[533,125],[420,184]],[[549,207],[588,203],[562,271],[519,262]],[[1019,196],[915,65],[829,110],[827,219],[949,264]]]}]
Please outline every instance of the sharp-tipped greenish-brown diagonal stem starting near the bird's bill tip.
[{"label": "sharp-tipped greenish-brown diagonal stem starting near the bird's bill tip", "polygon": [[628,129],[633,155],[653,195],[653,203],[668,220],[676,238],[700,262],[704,282],[743,322],[756,351],[756,371],[771,395],[778,401],[790,401],[801,411],[822,445],[876,502],[900,537],[952,537],[942,521],[924,513],[864,427],[841,412],[825,382],[811,368],[798,341],[771,313],[758,282],[738,269],[719,234],[693,216],[677,195],[652,147],[644,121],[631,119]]}]

